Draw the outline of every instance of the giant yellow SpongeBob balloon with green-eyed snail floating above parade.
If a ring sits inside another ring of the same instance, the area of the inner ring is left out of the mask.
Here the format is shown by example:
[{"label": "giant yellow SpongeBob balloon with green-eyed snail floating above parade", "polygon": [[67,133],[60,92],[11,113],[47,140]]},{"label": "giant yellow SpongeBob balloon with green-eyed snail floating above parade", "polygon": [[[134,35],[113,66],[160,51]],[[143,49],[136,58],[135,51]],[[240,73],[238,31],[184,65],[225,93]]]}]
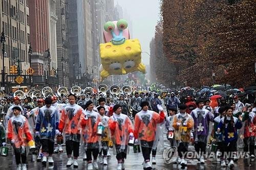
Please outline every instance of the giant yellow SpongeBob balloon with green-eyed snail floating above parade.
[{"label": "giant yellow SpongeBob balloon with green-eyed snail floating above parade", "polygon": [[130,39],[124,19],[109,21],[104,25],[104,44],[100,44],[100,76],[125,75],[133,71],[145,74],[141,63],[141,47],[138,39]]}]

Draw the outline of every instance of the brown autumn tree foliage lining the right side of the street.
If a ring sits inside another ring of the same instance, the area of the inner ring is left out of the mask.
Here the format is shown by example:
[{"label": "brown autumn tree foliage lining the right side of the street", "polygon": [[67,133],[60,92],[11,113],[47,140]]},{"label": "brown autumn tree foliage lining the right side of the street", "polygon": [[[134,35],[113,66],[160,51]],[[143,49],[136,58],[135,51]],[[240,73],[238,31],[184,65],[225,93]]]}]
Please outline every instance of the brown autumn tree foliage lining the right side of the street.
[{"label": "brown autumn tree foliage lining the right side of the street", "polygon": [[[162,61],[151,72],[163,84],[177,79],[181,85],[212,85],[213,73],[215,84],[255,84],[255,11],[255,0],[162,0],[151,44]],[[168,74],[161,63],[172,68],[167,79],[161,78]]]}]

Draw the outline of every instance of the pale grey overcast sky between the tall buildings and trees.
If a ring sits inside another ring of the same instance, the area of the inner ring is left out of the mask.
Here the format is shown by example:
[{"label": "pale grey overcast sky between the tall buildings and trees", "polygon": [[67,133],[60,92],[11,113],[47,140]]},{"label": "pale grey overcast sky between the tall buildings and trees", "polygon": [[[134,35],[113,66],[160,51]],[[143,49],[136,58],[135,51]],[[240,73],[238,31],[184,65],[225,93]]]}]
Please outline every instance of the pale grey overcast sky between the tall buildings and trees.
[{"label": "pale grey overcast sky between the tall buildings and trees", "polygon": [[[138,38],[142,52],[150,54],[150,41],[154,37],[159,20],[159,0],[115,0],[115,4],[117,3],[123,8],[123,19],[126,19],[126,14],[130,16],[127,20],[132,21],[132,38]],[[147,54],[142,53],[142,60],[144,64],[149,65]]]}]

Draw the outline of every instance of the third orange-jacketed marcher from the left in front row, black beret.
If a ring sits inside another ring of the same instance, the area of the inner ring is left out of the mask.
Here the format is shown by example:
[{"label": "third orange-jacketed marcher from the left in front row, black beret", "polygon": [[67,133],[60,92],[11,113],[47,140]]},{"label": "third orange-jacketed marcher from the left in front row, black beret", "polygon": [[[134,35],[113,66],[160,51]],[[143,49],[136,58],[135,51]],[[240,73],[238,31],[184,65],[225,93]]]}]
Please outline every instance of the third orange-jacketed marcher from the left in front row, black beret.
[{"label": "third orange-jacketed marcher from the left in front row, black beret", "polygon": [[[97,128],[101,123],[101,116],[93,110],[94,104],[88,101],[80,118],[80,128],[82,129],[83,141],[86,144],[87,169],[98,169],[97,157],[99,154],[99,136]],[[92,163],[93,155],[93,163]]]}]

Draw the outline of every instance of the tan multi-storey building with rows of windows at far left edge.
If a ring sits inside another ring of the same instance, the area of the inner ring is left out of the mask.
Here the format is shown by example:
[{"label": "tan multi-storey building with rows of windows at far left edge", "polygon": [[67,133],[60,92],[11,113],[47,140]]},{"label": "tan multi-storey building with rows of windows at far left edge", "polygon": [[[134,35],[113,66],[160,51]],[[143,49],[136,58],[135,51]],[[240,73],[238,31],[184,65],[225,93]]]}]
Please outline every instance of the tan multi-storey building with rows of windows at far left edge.
[{"label": "tan multi-storey building with rows of windows at far left edge", "polygon": [[[10,83],[14,83],[15,77],[11,77],[10,66],[18,66],[18,74],[26,74],[26,70],[29,68],[29,8],[27,1],[24,0],[2,0],[0,9],[2,9],[2,15],[0,16],[1,32],[5,34],[5,57],[1,53],[0,69],[3,70],[3,58],[4,58],[4,70],[5,74],[5,86]],[[2,44],[1,44],[2,47]],[[2,47],[3,48],[3,47]],[[1,49],[2,51],[2,49]]]}]

